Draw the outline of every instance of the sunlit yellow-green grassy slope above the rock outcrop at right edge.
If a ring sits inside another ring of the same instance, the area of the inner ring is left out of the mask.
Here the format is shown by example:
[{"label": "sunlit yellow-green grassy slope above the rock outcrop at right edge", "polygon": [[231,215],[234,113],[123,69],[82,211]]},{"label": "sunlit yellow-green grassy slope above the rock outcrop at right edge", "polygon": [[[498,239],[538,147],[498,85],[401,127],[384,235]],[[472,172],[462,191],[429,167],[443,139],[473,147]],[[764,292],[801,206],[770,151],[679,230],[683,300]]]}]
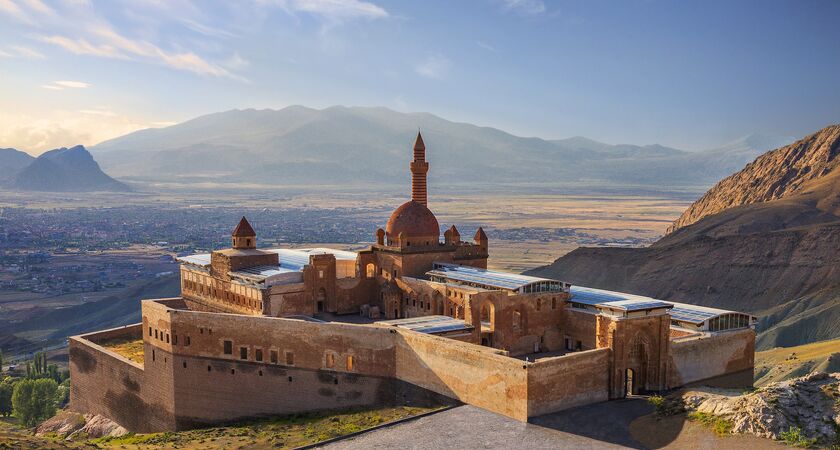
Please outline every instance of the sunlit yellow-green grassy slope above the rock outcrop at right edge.
[{"label": "sunlit yellow-green grassy slope above the rock outcrop at right edge", "polygon": [[755,385],[807,375],[840,371],[840,339],[797,347],[780,347],[755,354]]}]

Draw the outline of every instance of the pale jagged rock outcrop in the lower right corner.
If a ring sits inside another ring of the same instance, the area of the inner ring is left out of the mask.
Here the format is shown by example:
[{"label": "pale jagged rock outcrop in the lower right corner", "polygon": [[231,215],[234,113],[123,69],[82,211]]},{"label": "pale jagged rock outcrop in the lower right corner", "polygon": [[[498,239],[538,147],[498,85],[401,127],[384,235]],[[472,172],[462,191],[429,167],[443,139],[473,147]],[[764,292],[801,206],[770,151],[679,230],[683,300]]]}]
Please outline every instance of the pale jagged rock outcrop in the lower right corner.
[{"label": "pale jagged rock outcrop in the lower right corner", "polygon": [[682,399],[688,411],[729,420],[732,433],[782,439],[784,433],[799,429],[804,439],[822,445],[838,442],[840,373],[816,372],[743,395],[688,391]]}]

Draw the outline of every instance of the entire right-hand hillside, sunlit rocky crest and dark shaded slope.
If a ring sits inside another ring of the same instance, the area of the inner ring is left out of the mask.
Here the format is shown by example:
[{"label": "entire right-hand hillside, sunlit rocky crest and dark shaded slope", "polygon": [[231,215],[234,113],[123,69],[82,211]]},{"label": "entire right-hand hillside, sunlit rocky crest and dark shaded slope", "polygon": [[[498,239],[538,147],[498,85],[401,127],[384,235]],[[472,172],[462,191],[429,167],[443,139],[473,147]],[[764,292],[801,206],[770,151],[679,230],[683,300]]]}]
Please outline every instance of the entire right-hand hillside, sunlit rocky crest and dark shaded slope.
[{"label": "entire right-hand hillside, sunlit rocky crest and dark shaded slope", "polygon": [[768,152],[647,248],[578,248],[531,273],[763,315],[760,348],[840,337],[840,125]]}]

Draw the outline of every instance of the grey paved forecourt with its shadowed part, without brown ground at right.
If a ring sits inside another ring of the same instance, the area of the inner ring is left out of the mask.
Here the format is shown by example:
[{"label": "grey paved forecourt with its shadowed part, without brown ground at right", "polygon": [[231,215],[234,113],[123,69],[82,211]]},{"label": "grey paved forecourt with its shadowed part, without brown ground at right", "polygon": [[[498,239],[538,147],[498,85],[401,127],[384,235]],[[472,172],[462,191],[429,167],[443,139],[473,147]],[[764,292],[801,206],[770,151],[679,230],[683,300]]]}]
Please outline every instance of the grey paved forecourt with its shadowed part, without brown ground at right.
[{"label": "grey paved forecourt with its shadowed part, without brown ground at right", "polygon": [[630,422],[652,407],[618,400],[538,417],[522,423],[465,405],[336,442],[329,449],[603,449],[643,448]]}]

